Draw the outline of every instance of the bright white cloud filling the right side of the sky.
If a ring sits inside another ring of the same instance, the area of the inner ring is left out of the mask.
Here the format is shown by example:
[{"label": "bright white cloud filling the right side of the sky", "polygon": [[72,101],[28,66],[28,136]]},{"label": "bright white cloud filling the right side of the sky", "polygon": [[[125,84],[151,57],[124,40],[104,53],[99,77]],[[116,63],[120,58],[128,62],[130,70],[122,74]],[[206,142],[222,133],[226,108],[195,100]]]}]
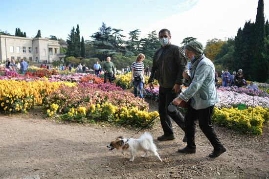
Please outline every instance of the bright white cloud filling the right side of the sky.
[{"label": "bright white cloud filling the right side of the sky", "polygon": [[[195,37],[203,45],[214,38],[225,40],[235,37],[246,21],[255,21],[257,6],[258,0],[199,0],[191,9],[141,29],[141,37],[153,30],[158,32],[167,28],[175,45],[181,45],[186,37]],[[266,20],[269,16],[267,6],[264,5]]]}]

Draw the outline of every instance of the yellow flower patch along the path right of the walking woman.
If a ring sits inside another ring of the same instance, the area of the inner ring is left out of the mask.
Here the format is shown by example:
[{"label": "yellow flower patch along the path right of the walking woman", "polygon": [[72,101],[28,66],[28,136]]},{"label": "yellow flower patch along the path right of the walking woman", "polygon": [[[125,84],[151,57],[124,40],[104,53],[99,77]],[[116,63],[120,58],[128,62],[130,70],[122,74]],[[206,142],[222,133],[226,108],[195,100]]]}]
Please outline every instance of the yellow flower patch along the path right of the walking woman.
[{"label": "yellow flower patch along the path right of the walking woman", "polygon": [[237,108],[214,108],[212,121],[217,124],[231,127],[243,133],[262,134],[263,123],[269,121],[269,110],[267,108],[255,107],[246,110]]}]

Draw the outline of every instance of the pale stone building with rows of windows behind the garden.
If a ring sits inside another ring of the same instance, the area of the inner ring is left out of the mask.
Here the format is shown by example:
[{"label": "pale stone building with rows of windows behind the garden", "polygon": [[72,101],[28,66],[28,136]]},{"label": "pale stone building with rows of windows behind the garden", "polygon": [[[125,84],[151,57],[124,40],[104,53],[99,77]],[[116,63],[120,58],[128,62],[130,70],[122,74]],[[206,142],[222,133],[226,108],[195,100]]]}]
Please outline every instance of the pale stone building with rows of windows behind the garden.
[{"label": "pale stone building with rows of windows behind the garden", "polygon": [[0,63],[4,63],[7,58],[24,59],[29,62],[52,63],[59,60],[63,62],[64,57],[64,54],[60,54],[58,41],[0,35]]}]

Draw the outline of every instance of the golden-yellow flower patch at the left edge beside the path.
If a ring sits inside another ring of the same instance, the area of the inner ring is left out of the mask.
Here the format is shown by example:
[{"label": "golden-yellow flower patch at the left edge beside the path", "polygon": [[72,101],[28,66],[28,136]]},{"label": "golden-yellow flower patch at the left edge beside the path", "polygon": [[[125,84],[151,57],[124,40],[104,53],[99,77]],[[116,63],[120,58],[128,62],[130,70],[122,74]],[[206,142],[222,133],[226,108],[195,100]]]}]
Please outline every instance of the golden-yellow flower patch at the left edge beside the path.
[{"label": "golden-yellow flower patch at the left edge beside the path", "polygon": [[26,112],[41,105],[44,97],[63,85],[75,86],[76,83],[0,80],[0,111]]}]

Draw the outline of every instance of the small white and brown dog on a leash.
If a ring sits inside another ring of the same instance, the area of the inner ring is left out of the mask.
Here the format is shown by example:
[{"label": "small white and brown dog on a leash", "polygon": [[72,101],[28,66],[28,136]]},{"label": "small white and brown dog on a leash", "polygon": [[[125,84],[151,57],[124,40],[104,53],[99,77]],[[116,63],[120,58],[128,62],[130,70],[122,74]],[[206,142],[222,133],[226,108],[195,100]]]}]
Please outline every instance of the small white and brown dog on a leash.
[{"label": "small white and brown dog on a leash", "polygon": [[154,156],[157,156],[160,161],[161,158],[159,157],[159,154],[157,153],[157,147],[153,143],[152,135],[149,133],[144,133],[141,135],[140,138],[134,139],[125,139],[123,137],[117,137],[116,140],[113,140],[109,145],[107,145],[110,151],[112,151],[114,148],[121,151],[122,153],[130,152],[131,153],[131,159],[130,161],[134,161],[134,157],[137,154],[138,151],[145,152],[144,155],[141,157],[146,157],[148,154],[152,153]]}]

